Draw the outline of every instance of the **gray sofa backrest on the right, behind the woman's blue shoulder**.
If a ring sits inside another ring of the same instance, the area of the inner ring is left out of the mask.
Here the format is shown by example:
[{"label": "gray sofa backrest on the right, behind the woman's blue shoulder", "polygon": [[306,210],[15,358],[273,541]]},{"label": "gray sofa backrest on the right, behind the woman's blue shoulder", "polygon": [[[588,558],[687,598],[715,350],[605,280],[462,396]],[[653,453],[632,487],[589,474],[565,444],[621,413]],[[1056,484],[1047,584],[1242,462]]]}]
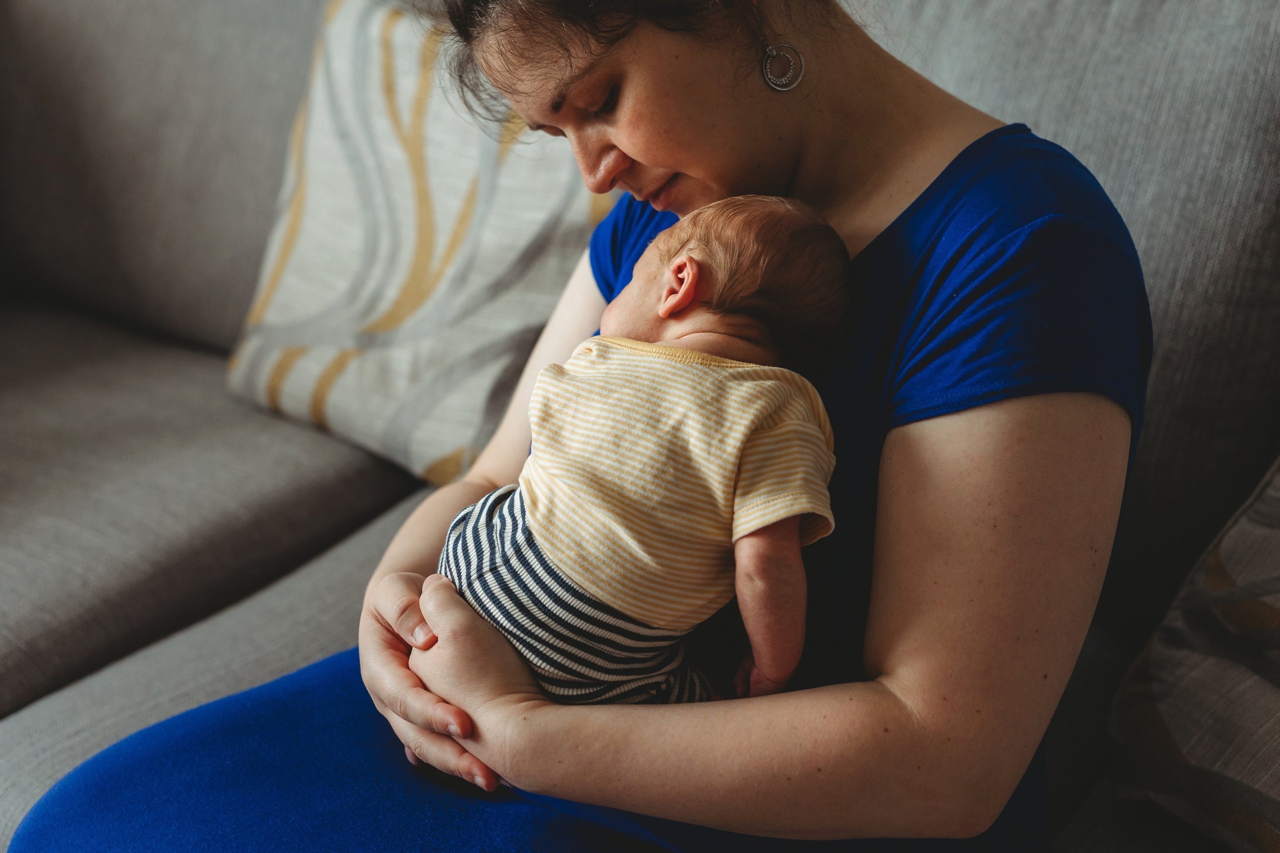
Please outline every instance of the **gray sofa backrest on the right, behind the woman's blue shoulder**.
[{"label": "gray sofa backrest on the right, behind the woman's blue shoulder", "polygon": [[1101,180],[1155,357],[1097,620],[1137,650],[1280,453],[1280,4],[849,0],[891,52]]}]

